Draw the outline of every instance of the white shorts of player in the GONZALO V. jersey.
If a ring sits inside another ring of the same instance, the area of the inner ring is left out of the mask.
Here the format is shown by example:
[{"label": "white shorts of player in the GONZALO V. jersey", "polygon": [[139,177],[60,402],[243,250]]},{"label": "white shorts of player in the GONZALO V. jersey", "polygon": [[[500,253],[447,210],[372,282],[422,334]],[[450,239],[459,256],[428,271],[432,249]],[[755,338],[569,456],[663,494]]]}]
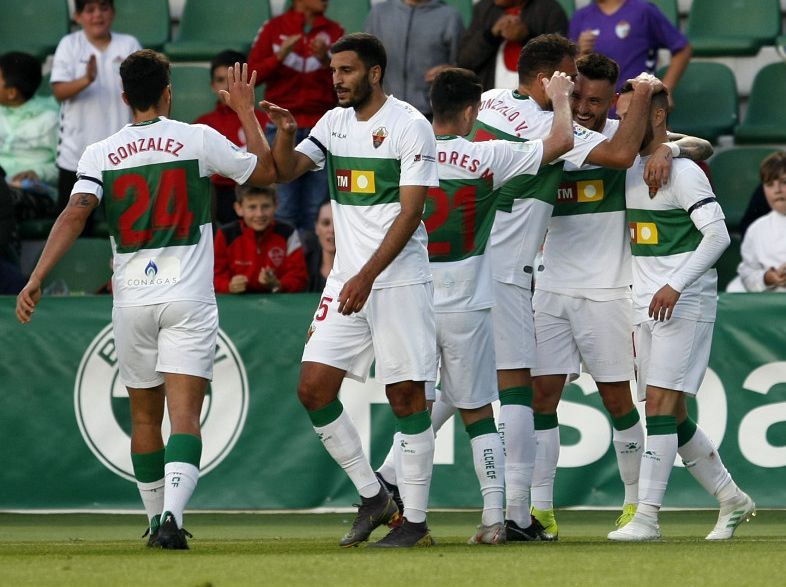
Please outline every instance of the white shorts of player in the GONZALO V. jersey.
[{"label": "white shorts of player in the GONZALO V. jersey", "polygon": [[497,369],[529,369],[535,366],[535,323],[532,292],[512,283],[494,280],[496,306],[494,350]]}]

